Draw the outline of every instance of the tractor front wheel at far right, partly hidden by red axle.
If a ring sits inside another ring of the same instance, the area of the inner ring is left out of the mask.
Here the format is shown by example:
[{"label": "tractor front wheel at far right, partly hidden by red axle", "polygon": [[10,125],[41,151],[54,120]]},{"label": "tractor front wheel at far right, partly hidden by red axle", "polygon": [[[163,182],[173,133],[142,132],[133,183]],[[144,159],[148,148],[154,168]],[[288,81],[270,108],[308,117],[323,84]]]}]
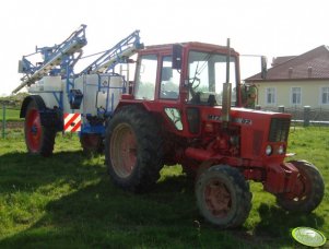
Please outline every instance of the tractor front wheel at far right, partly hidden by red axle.
[{"label": "tractor front wheel at far right, partly hidden by red axle", "polygon": [[287,211],[309,213],[322,201],[325,183],[319,170],[306,161],[291,161],[299,175],[295,191],[277,195],[277,203]]}]

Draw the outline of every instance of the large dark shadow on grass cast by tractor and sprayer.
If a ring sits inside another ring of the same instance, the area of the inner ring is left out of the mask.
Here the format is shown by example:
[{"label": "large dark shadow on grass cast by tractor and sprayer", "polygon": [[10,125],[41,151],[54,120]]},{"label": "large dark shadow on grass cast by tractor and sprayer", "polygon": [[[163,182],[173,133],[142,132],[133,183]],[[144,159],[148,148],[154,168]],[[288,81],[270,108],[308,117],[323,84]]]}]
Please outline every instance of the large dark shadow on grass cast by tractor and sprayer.
[{"label": "large dark shadow on grass cast by tractor and sprayer", "polygon": [[[64,181],[71,187],[69,193],[46,203],[38,221],[2,239],[1,248],[236,248],[236,244],[243,245],[225,232],[196,223],[200,216],[193,183],[184,176],[166,177],[149,193],[133,194],[116,188],[105,174],[105,166],[86,163],[81,153],[58,153],[47,161],[7,154],[1,161],[14,165],[1,182],[2,193],[13,191],[12,185],[32,193],[54,181]],[[32,168],[26,161],[32,161]],[[0,170],[5,168],[0,166]]]}]

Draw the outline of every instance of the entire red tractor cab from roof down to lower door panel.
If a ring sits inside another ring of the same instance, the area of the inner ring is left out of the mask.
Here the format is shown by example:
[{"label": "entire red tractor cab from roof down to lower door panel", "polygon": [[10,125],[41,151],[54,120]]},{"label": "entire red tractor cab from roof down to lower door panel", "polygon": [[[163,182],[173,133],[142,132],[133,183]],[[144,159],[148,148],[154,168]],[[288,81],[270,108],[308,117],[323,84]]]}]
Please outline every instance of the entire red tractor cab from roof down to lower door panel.
[{"label": "entire red tractor cab from roof down to lower door panel", "polygon": [[184,43],[145,47],[138,51],[131,94],[122,96],[118,108],[140,104],[161,114],[169,132],[200,137],[205,112],[225,118],[231,107],[242,105],[238,64],[238,54],[224,46]]}]

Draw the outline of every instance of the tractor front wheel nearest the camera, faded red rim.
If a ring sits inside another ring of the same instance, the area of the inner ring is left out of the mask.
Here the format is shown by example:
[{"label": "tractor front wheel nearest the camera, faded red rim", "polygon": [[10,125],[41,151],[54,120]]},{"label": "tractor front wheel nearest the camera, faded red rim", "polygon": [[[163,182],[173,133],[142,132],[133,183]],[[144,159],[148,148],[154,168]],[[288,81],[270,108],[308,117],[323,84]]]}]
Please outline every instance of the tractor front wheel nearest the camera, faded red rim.
[{"label": "tractor front wheel nearest the camera, faded red rim", "polygon": [[251,209],[249,183],[228,165],[215,165],[199,175],[196,197],[203,217],[220,228],[243,225]]}]

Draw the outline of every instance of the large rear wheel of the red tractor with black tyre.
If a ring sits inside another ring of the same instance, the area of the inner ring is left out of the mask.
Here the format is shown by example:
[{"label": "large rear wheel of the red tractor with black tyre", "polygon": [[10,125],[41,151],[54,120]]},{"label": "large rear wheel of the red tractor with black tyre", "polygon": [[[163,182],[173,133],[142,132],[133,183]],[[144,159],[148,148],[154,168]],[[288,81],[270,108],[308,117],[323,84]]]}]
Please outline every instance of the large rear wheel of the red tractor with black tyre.
[{"label": "large rear wheel of the red tractor with black tyre", "polygon": [[137,106],[125,106],[109,120],[105,159],[113,181],[143,192],[160,178],[163,142],[155,119]]}]

